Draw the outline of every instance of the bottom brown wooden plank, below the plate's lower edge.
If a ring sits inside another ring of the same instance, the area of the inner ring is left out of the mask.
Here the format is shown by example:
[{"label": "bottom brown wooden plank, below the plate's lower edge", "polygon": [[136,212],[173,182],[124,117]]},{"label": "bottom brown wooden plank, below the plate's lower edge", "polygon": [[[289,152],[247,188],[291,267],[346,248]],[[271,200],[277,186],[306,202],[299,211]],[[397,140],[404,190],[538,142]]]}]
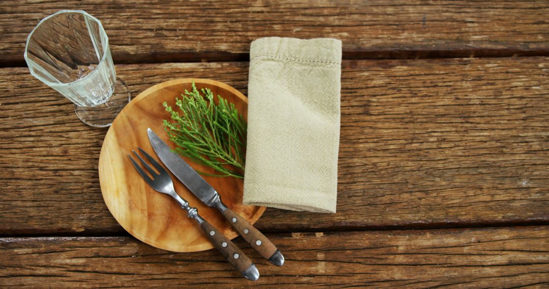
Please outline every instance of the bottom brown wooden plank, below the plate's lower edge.
[{"label": "bottom brown wooden plank, below the plate's lower edge", "polygon": [[[0,284],[39,287],[510,288],[549,285],[546,227],[269,234],[283,267],[247,281],[215,250],[172,253],[133,238],[0,238]],[[239,239],[240,240],[240,239]],[[240,240],[238,245],[242,245]],[[255,253],[244,250],[249,256]]]}]

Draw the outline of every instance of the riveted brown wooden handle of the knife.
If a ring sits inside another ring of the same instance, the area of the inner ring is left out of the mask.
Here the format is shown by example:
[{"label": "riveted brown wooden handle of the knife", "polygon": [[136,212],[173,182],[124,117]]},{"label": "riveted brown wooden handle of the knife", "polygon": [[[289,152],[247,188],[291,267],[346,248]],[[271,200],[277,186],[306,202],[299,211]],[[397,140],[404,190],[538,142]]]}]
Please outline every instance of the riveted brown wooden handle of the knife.
[{"label": "riveted brown wooden handle of the knife", "polygon": [[[273,245],[265,235],[261,234],[259,230],[231,209],[227,208],[222,213],[234,229],[237,230],[240,236],[242,236],[242,238],[244,238],[244,240],[246,240],[251,247],[259,252],[263,258],[278,266],[282,266],[282,264],[284,264],[284,257],[282,257],[282,254],[278,251],[277,247]],[[276,256],[279,257],[272,258]]]}]

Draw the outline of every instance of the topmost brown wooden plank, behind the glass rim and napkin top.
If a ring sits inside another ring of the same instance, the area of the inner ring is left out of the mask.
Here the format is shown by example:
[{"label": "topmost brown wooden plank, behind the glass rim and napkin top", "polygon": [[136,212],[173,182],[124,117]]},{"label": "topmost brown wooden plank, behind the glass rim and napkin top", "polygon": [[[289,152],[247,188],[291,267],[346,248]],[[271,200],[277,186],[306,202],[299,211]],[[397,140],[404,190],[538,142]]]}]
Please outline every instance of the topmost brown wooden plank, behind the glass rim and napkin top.
[{"label": "topmost brown wooden plank, behind the glass rim and napkin top", "polygon": [[0,65],[61,9],[100,19],[118,63],[246,60],[259,37],[335,37],[346,59],[548,55],[546,1],[4,1]]}]

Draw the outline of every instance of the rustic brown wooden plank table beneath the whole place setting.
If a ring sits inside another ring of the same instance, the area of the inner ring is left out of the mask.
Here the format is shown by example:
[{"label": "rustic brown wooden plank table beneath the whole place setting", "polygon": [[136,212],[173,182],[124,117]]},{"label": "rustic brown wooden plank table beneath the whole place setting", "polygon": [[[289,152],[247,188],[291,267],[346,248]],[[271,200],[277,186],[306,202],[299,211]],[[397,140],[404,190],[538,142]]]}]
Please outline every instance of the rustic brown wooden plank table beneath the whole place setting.
[{"label": "rustic brown wooden plank table beneath the whole place setting", "polygon": [[[201,77],[247,93],[250,42],[343,41],[336,214],[267,209],[284,252],[244,280],[216,251],[128,235],[98,180],[107,129],[29,74],[27,34],[83,9],[136,96]],[[547,1],[0,3],[0,286],[549,286]]]}]

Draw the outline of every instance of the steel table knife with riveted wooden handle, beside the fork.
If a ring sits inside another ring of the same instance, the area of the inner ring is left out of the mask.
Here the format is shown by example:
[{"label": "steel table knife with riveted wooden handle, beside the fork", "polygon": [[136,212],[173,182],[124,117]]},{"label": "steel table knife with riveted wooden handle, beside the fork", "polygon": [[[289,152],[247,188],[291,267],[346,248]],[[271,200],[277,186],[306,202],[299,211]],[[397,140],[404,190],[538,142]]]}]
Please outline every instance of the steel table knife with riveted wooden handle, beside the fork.
[{"label": "steel table knife with riveted wooden handle, beside the fork", "polygon": [[166,167],[204,204],[216,207],[221,211],[234,229],[253,247],[262,257],[272,264],[282,266],[284,256],[267,237],[244,218],[237,215],[221,201],[217,191],[210,186],[186,161],[171,151],[171,148],[162,141],[152,129],[147,129],[150,144]]}]

